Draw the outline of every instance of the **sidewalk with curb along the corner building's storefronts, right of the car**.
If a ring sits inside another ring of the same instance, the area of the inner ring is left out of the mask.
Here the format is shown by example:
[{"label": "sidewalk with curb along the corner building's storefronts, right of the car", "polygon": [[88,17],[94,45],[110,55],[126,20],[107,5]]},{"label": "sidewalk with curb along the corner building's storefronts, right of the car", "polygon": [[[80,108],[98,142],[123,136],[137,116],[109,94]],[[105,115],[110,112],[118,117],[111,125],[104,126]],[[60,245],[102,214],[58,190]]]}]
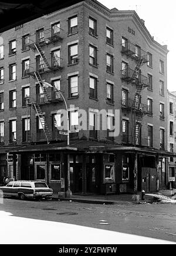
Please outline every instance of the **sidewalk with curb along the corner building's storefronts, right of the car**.
[{"label": "sidewalk with curb along the corner building's storefronts, right of the car", "polygon": [[[174,190],[162,190],[159,191],[161,195],[165,195],[166,197],[172,197],[174,194],[176,194],[176,189]],[[149,194],[158,194],[158,193],[149,193]],[[141,201],[141,193],[138,192],[138,195],[140,195],[140,201],[139,202],[149,202],[153,203],[152,197],[147,197],[145,195],[145,200]],[[58,193],[53,193],[53,200],[60,200],[60,201],[72,201],[72,202],[84,202],[87,204],[120,204],[122,202],[125,203],[139,203],[132,200],[132,194],[109,194],[109,195],[98,195],[98,194],[73,194],[72,198],[61,198],[58,197]]]}]

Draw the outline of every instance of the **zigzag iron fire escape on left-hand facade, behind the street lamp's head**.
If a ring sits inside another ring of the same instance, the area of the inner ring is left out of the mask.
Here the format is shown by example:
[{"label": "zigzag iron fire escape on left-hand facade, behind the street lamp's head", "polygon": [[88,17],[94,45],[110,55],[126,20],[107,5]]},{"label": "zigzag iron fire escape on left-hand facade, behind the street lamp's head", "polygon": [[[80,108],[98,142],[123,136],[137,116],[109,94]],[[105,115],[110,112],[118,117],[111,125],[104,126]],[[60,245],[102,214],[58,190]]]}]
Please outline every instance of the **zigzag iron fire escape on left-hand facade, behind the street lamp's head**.
[{"label": "zigzag iron fire escape on left-hand facade, behind the street lamp's head", "polygon": [[[45,74],[46,72],[55,72],[56,70],[62,69],[62,59],[60,56],[53,54],[51,59],[47,59],[42,50],[42,46],[48,45],[49,41],[50,43],[62,41],[60,31],[60,28],[55,28],[54,30],[50,28],[46,29],[45,31],[43,30],[42,34],[40,34],[40,36],[38,35],[37,38],[35,38],[36,35],[31,36],[32,39],[29,38],[28,47],[34,52],[38,51],[39,61],[38,63],[35,62],[34,64],[29,65],[27,74],[30,75],[33,79],[36,79],[38,82],[39,87],[43,92],[43,98],[45,99],[44,103],[46,104],[62,102],[62,98],[60,97],[58,90],[53,87],[54,94],[50,94],[48,89],[43,85],[43,80],[41,77],[41,75]],[[45,140],[49,144],[49,141],[52,140],[52,132],[49,131],[48,125],[46,124],[45,116],[43,115],[42,108],[40,107],[41,103],[43,102],[39,102],[38,99],[35,99],[35,101],[33,101],[33,99],[28,101],[28,105],[35,109],[40,125],[42,126],[43,133],[45,134]],[[42,140],[44,139],[39,139],[39,141]],[[38,141],[38,139],[36,139],[36,141]]]}]

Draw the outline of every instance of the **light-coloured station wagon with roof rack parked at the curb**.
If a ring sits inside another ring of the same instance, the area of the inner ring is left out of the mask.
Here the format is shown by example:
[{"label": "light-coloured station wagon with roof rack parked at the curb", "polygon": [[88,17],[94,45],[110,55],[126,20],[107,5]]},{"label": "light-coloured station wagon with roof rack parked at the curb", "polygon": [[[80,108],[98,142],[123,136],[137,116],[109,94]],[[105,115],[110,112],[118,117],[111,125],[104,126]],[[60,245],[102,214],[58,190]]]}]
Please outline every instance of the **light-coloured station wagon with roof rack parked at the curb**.
[{"label": "light-coloured station wagon with roof rack parked at the curb", "polygon": [[10,181],[6,186],[0,187],[4,195],[25,198],[51,198],[53,189],[45,182],[40,181]]}]

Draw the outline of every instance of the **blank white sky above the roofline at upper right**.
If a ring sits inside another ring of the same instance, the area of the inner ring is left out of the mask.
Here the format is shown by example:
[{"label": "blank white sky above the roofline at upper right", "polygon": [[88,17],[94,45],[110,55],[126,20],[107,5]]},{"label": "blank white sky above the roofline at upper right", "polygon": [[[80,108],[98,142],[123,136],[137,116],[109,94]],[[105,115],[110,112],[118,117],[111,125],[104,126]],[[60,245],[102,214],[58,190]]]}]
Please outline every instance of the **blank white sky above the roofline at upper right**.
[{"label": "blank white sky above the roofline at upper right", "polygon": [[167,87],[169,91],[176,91],[176,79],[173,79],[176,60],[176,1],[174,0],[98,0],[107,8],[116,7],[119,10],[134,10],[145,26],[154,36],[155,41],[167,45],[170,51],[167,55]]}]

